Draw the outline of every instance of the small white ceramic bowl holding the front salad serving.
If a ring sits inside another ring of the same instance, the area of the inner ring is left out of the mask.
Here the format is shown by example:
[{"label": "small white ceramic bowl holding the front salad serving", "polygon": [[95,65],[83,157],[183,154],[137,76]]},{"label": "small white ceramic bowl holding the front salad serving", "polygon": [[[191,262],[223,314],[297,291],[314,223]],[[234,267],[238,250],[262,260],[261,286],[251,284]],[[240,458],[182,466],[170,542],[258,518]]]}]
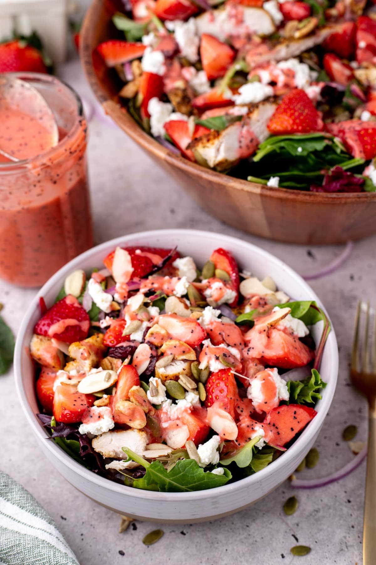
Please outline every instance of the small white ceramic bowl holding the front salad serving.
[{"label": "small white ceramic bowl holding the front salad serving", "polygon": [[[178,245],[180,253],[192,255],[199,265],[206,262],[211,251],[216,247],[224,247],[235,255],[241,268],[253,272],[261,279],[270,275],[276,281],[278,289],[284,290],[294,299],[320,301],[297,273],[259,247],[219,233],[191,229],[163,229],[118,237],[70,261],[46,282],[38,296],[34,298],[21,324],[14,358],[17,393],[43,453],[69,483],[101,505],[140,519],[192,523],[220,518],[243,509],[266,496],[286,480],[315,442],[329,410],[337,382],[338,348],[334,331],[329,335],[322,357],[320,372],[328,386],[324,390],[322,400],[317,403],[317,416],[308,424],[294,445],[268,467],[236,483],[193,493],[148,492],[113,483],[76,463],[53,441],[46,441],[47,433],[36,416],[38,406],[34,389],[34,370],[28,354],[28,345],[34,324],[39,319],[39,296],[43,296],[47,306],[50,306],[68,273],[76,268],[90,270],[92,267],[100,266],[103,258],[117,245],[160,247]],[[313,330],[316,341],[320,337],[320,329]]]}]

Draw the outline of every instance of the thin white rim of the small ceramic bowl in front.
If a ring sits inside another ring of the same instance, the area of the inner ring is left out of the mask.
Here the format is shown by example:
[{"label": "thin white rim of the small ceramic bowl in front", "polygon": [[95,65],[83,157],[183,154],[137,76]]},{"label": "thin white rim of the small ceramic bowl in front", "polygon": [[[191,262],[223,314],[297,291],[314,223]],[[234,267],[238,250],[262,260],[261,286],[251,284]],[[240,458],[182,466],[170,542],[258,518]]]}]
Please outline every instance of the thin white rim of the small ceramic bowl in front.
[{"label": "thin white rim of the small ceramic bowl in front", "polygon": [[[78,255],[76,258],[70,260],[67,264],[61,267],[60,270],[57,271],[38,291],[36,297],[33,298],[28,309],[26,310],[24,318],[21,321],[19,332],[17,333],[15,352],[14,352],[14,375],[15,375],[17,395],[19,397],[21,407],[23,408],[24,415],[26,416],[26,419],[29,421],[29,424],[31,425],[33,432],[37,435],[39,440],[45,441],[46,438],[49,438],[50,436],[42,427],[42,424],[38,421],[36,414],[34,414],[34,411],[32,410],[32,407],[26,401],[26,397],[23,394],[24,387],[21,377],[21,355],[24,347],[24,337],[30,318],[34,315],[36,310],[39,308],[39,297],[42,297],[43,294],[48,292],[50,288],[54,286],[57,282],[63,281],[64,277],[67,276],[68,272],[74,270],[74,268],[79,267],[82,260],[90,258],[91,255],[98,253],[98,251],[101,250],[107,251],[108,247],[112,247],[112,246],[116,247],[118,245],[124,245],[127,243],[127,240],[135,240],[138,237],[142,237],[142,238],[147,237],[150,238],[152,241],[153,237],[162,234],[163,236],[169,236],[171,241],[173,241],[175,235],[179,234],[179,236],[182,235],[184,236],[184,234],[186,234],[188,237],[192,233],[202,238],[205,238],[207,236],[213,237],[213,232],[207,232],[196,229],[175,228],[175,229],[156,229],[156,230],[149,230],[144,232],[130,233],[130,234],[126,234],[125,236],[120,236],[112,240],[108,240],[102,244],[92,247],[91,249],[85,251],[81,255]],[[250,250],[250,253],[252,253],[252,251],[257,251],[258,253],[264,255],[266,261],[272,260],[273,262],[277,263],[278,267],[282,268],[282,270],[284,270],[290,276],[293,276],[295,277],[295,279],[297,279],[297,282],[299,283],[299,285],[302,286],[302,289],[307,292],[308,296],[312,297],[313,300],[316,300],[317,303],[321,307],[323,307],[319,297],[317,297],[316,293],[313,292],[313,290],[307,284],[307,282],[304,281],[304,279],[302,279],[302,277],[297,272],[295,272],[281,259],[278,259],[277,257],[275,257],[275,255],[269,253],[269,251],[264,250],[262,247],[258,247],[254,244],[251,244],[250,242],[240,240],[240,238],[237,237],[226,236],[216,232],[214,232],[214,235],[220,237],[221,244],[224,246],[227,243],[229,243],[236,246],[247,247],[247,249]],[[184,498],[184,501],[192,501],[197,499],[211,498],[213,496],[218,496],[220,493],[222,494],[230,493],[231,491],[237,490],[241,487],[251,486],[257,483],[258,481],[262,481],[266,476],[268,476],[268,474],[271,472],[271,466],[272,466],[272,471],[277,471],[278,466],[281,467],[282,463],[287,462],[286,461],[287,457],[289,457],[290,459],[294,459],[295,455],[298,454],[300,446],[303,445],[304,442],[308,444],[309,441],[320,430],[321,425],[325,419],[326,414],[328,413],[329,407],[333,400],[335,387],[337,384],[337,378],[338,378],[338,346],[337,346],[337,338],[335,336],[333,327],[329,334],[328,340],[326,341],[325,348],[330,350],[329,351],[329,355],[331,359],[331,363],[329,367],[330,379],[328,382],[328,386],[326,386],[325,388],[325,394],[323,394],[322,396],[320,410],[317,412],[317,415],[311,421],[311,423],[309,423],[307,428],[304,429],[302,434],[300,434],[300,436],[294,442],[294,444],[291,447],[289,447],[289,449],[285,453],[283,453],[281,457],[273,461],[271,464],[269,464],[261,471],[258,471],[257,473],[254,473],[253,475],[246,477],[245,479],[240,479],[238,481],[235,481],[235,483],[218,486],[213,489],[197,490],[186,493],[170,493],[170,492],[165,493],[165,492],[155,492],[149,490],[146,491],[143,489],[133,488],[131,486],[121,485],[115,483],[114,481],[111,481],[110,479],[96,475],[94,472],[90,471],[89,469],[86,469],[81,464],[74,461],[74,459],[70,458],[69,455],[65,453],[65,451],[60,449],[60,447],[55,444],[55,442],[47,441],[45,442],[45,446],[47,447],[47,450],[50,451],[50,453],[54,457],[59,459],[61,464],[69,467],[71,471],[77,473],[79,476],[81,476],[83,480],[87,480],[90,483],[100,488],[105,488],[105,489],[107,488],[111,490],[113,493],[122,494],[122,495],[132,495],[135,498],[145,498],[145,496],[147,496],[147,498],[155,501],[164,500],[164,501],[176,502],[176,501],[180,501],[182,498]],[[146,495],[145,493],[148,494]]]}]

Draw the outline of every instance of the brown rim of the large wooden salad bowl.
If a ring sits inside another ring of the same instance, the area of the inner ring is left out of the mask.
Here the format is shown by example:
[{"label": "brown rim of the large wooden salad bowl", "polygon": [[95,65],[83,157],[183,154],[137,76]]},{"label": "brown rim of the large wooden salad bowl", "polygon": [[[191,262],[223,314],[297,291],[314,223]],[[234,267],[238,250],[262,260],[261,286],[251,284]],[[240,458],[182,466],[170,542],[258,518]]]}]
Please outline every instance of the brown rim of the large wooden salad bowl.
[{"label": "brown rim of the large wooden salad bowl", "polygon": [[236,190],[242,190],[254,194],[262,193],[263,196],[268,198],[283,199],[286,201],[305,201],[312,203],[329,203],[329,202],[348,202],[358,201],[367,198],[376,199],[376,192],[359,192],[359,193],[315,193],[306,190],[282,188],[282,187],[269,187],[266,185],[250,182],[244,179],[238,179],[231,175],[225,175],[213,169],[202,167],[198,163],[193,163],[182,155],[175,155],[167,147],[158,143],[152,136],[149,136],[139,124],[131,117],[127,108],[121,106],[116,100],[109,98],[107,92],[103,88],[98,75],[95,72],[92,63],[92,48],[90,37],[93,32],[94,26],[92,20],[100,13],[100,8],[103,5],[103,0],[92,0],[91,6],[86,12],[85,19],[83,20],[80,32],[80,47],[79,54],[81,58],[81,65],[85,72],[86,79],[95,97],[98,99],[103,111],[107,114],[121,129],[129,135],[132,140],[139,144],[143,149],[149,151],[154,157],[165,161],[171,166],[174,166],[180,171],[188,175],[200,177],[206,182],[210,182],[215,189],[216,185]]}]

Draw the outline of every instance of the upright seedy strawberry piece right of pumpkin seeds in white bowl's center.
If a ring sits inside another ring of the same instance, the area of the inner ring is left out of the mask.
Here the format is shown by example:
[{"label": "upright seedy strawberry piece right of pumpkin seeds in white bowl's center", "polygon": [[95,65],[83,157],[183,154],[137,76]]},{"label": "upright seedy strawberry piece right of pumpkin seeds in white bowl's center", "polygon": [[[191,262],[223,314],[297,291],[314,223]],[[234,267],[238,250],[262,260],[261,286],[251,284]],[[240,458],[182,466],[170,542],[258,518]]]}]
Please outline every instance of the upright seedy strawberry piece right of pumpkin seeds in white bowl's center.
[{"label": "upright seedy strawberry piece right of pumpkin seeds in white bowl's center", "polygon": [[222,402],[222,408],[232,418],[235,418],[235,403],[238,397],[238,388],[230,369],[221,369],[211,373],[205,385],[205,406],[209,408],[215,402]]}]

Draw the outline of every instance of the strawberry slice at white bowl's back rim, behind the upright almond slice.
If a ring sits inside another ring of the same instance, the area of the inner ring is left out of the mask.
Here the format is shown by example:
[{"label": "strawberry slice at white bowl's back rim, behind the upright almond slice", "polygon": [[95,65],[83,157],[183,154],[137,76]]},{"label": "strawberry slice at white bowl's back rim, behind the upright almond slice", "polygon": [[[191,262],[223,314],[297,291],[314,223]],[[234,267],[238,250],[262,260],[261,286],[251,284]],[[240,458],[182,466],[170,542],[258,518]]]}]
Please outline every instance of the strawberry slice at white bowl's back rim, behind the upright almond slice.
[{"label": "strawberry slice at white bowl's back rim, behind the upright almond slice", "polygon": [[[171,251],[171,249],[163,249],[162,247],[147,247],[145,245],[122,247],[122,249],[125,249],[130,254],[133,267],[132,278],[139,277],[140,279],[146,276],[152,270],[154,265],[161,263],[162,259],[164,259]],[[103,260],[105,267],[107,267],[109,271],[112,271],[114,254],[115,251],[111,251],[111,253],[109,253]],[[163,269],[171,266],[178,257],[180,257],[180,254],[178,251],[175,251]]]}]

